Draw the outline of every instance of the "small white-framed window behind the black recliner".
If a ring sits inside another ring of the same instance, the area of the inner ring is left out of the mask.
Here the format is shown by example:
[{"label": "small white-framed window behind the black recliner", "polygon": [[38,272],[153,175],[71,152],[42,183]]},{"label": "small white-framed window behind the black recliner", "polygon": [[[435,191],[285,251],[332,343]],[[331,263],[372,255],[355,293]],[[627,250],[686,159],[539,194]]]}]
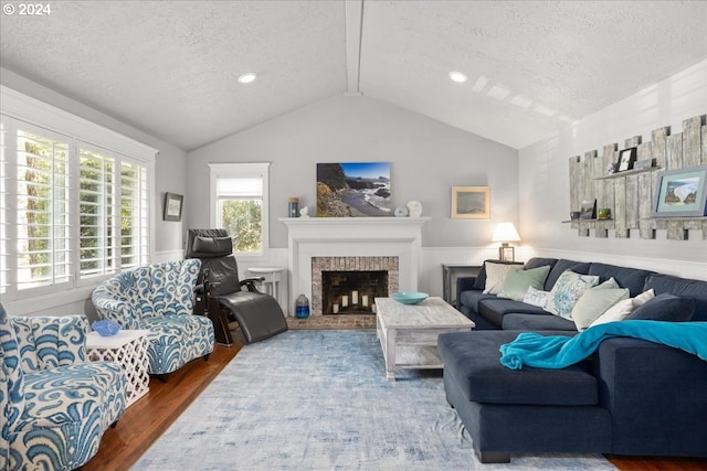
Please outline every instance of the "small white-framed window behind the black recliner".
[{"label": "small white-framed window behind the black recliner", "polygon": [[267,255],[270,163],[211,163],[211,225],[228,231],[240,257]]}]

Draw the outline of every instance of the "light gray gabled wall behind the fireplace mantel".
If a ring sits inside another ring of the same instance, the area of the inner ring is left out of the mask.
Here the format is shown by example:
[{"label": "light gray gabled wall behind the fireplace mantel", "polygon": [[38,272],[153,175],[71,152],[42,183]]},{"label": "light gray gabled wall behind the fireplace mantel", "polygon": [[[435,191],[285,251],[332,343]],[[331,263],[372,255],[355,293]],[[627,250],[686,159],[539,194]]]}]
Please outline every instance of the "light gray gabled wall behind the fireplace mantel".
[{"label": "light gray gabled wall behind the fireplace mantel", "polygon": [[[215,162],[272,162],[271,247],[287,247],[278,217],[287,199],[316,205],[318,162],[383,161],[391,165],[393,206],[422,203],[432,221],[426,247],[488,245],[495,223],[518,218],[515,149],[422,115],[362,96],[336,96],[189,152],[188,227],[209,225],[209,167]],[[488,185],[492,220],[452,220],[453,185]]]}]

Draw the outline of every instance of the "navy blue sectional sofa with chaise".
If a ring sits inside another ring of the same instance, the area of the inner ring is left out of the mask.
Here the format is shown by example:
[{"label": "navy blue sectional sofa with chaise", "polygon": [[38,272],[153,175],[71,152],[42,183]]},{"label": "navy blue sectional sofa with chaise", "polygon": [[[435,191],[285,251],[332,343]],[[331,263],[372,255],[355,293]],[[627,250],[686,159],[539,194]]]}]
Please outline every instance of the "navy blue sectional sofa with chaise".
[{"label": "navy blue sectional sofa with chaise", "polygon": [[[654,290],[645,319],[707,321],[707,281],[564,259],[534,258],[525,268],[544,265],[551,267],[547,291],[568,269],[600,281],[613,277],[631,298]],[[519,333],[578,331],[571,319],[483,293],[485,275],[482,269],[457,286],[458,309],[477,330],[437,341],[447,402],[482,462],[508,462],[523,452],[707,457],[707,362],[657,343],[613,338],[566,368],[508,370],[499,347]]]}]

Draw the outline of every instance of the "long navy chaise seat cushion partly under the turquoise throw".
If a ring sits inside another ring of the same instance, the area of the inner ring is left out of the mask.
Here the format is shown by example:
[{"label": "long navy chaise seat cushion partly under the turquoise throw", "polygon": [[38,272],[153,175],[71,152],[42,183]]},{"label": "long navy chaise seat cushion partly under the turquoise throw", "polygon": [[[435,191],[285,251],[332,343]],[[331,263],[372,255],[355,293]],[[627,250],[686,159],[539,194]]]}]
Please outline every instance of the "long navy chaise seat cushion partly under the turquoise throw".
[{"label": "long navy chaise seat cushion partly under the turquoise throw", "polygon": [[503,366],[499,347],[513,342],[519,333],[472,331],[441,334],[437,347],[444,361],[444,375],[451,375],[464,396],[475,403],[548,406],[598,403],[599,388],[597,378],[590,373],[590,362],[562,370],[508,370]]}]

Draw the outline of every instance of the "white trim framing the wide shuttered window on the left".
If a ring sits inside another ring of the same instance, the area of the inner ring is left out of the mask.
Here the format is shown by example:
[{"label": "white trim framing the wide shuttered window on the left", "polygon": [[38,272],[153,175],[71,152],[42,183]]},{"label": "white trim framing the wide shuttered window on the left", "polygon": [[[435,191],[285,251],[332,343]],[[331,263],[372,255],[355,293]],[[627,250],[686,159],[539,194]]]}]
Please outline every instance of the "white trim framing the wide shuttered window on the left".
[{"label": "white trim framing the wide shuttered window on the left", "polygon": [[[146,146],[141,142],[138,142],[134,139],[130,139],[124,135],[120,135],[116,131],[113,131],[108,128],[105,128],[95,122],[88,121],[84,118],[81,118],[71,113],[64,111],[63,109],[56,108],[52,105],[49,105],[44,101],[41,101],[36,98],[32,98],[28,95],[21,94],[12,88],[8,88],[4,85],[0,85],[0,114],[2,115],[3,121],[9,126],[4,129],[6,132],[6,141],[7,146],[6,152],[15,152],[17,151],[17,129],[22,128],[23,126],[30,126],[34,128],[39,128],[46,133],[57,133],[70,141],[70,154],[71,159],[76,159],[77,162],[77,153],[80,146],[91,146],[96,147],[98,149],[103,149],[106,152],[110,152],[117,154],[120,160],[125,162],[137,163],[144,167],[148,173],[147,185],[149,190],[148,194],[148,204],[150,214],[148,217],[149,221],[149,233],[148,233],[148,257],[152,259],[155,257],[155,232],[156,232],[156,221],[155,211],[156,211],[156,199],[155,199],[155,163],[156,156],[158,150]],[[12,135],[14,133],[14,136]],[[10,162],[12,153],[10,153]],[[12,165],[9,165],[10,168]],[[9,181],[12,181],[13,175],[15,175],[17,170],[8,169],[9,174],[6,178]],[[72,178],[76,179],[78,175],[77,165],[74,167],[72,171]],[[4,196],[3,196],[4,197]],[[72,193],[70,196],[71,204],[76,204],[78,197],[77,188],[72,189]],[[7,210],[7,225],[8,225],[8,237],[11,237],[17,233],[17,229],[12,227],[13,224],[17,223],[15,216],[10,211],[12,204],[10,202],[6,202],[2,205],[3,208]],[[71,218],[76,223],[74,226],[74,237],[78,234],[77,218],[78,212],[77,207],[72,207],[70,212]],[[6,243],[11,244],[11,240],[8,239]],[[14,250],[12,251],[14,253]],[[48,291],[44,290],[31,290],[27,292],[30,296],[27,300],[20,299],[18,297],[17,287],[9,292],[6,292],[6,296],[12,293],[8,297],[8,308],[12,306],[13,308],[19,308],[17,310],[22,311],[28,307],[28,303],[34,303],[41,299],[51,299],[51,298],[61,298],[54,299],[53,306],[61,306],[63,300],[65,299],[75,301],[82,297],[83,292],[87,288],[92,288],[96,286],[97,282],[103,279],[109,278],[112,275],[106,275],[102,277],[95,277],[89,279],[82,280],[78,275],[78,259],[73,259],[74,269],[72,270],[72,281],[71,288],[66,290],[66,286],[52,286],[45,287]],[[8,274],[8,282],[12,285],[17,281],[15,275],[12,274],[12,270],[17,270],[17,266],[14,263],[8,264],[8,269],[10,272]],[[49,293],[49,295],[48,295]],[[24,298],[24,297],[23,297]]]}]

